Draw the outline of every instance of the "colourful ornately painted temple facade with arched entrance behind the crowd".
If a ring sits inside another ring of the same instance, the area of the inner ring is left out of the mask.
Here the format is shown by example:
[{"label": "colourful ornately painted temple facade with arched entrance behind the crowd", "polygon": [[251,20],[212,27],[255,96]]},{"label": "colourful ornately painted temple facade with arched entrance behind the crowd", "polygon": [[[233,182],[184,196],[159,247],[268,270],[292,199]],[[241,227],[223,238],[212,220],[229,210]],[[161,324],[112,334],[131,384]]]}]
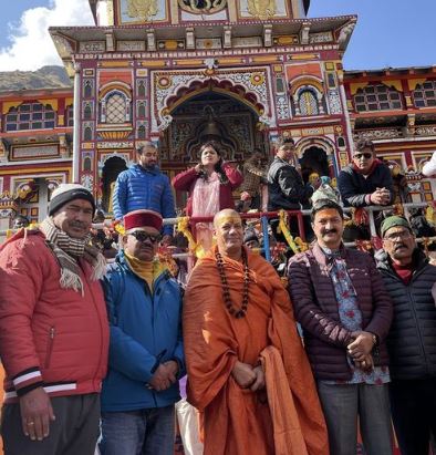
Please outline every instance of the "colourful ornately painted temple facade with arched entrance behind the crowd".
[{"label": "colourful ornately painted temple facade with arched entrance behind the crowd", "polygon": [[[411,200],[433,200],[436,183],[419,169],[436,149],[436,69],[344,72],[356,17],[308,19],[309,3],[90,0],[94,27],[50,29],[74,89],[0,93],[3,226],[37,206],[41,219],[61,180],[92,189],[110,214],[116,176],[144,141],[158,145],[173,177],[206,139],[242,163],[255,149],[270,158],[277,137],[289,136],[304,178],[334,178],[353,139],[368,137],[407,175]],[[41,105],[44,122],[28,123],[28,105]]]}]

